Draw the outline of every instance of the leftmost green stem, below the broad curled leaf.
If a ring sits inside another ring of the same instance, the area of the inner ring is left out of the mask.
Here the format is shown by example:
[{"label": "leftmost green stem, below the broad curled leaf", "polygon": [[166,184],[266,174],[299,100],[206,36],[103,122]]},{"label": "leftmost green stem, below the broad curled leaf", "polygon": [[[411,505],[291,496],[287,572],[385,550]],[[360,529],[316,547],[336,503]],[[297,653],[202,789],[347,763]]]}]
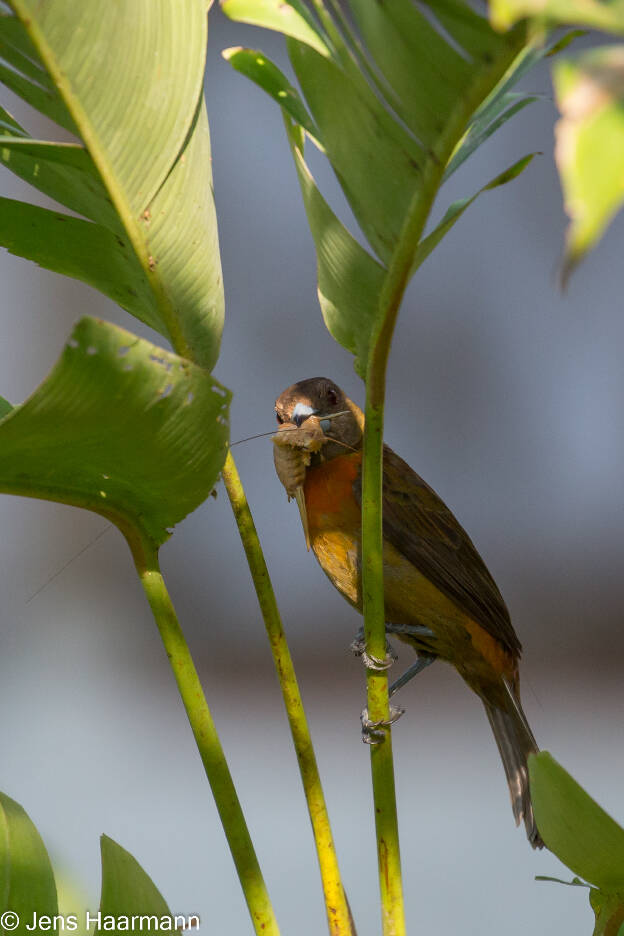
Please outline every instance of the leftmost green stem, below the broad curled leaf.
[{"label": "leftmost green stem, below the broad curled leaf", "polygon": [[136,543],[130,545],[195,736],[255,931],[258,936],[279,936],[245,817],[195,664],[160,571],[157,551],[145,541],[141,542],[141,548]]}]

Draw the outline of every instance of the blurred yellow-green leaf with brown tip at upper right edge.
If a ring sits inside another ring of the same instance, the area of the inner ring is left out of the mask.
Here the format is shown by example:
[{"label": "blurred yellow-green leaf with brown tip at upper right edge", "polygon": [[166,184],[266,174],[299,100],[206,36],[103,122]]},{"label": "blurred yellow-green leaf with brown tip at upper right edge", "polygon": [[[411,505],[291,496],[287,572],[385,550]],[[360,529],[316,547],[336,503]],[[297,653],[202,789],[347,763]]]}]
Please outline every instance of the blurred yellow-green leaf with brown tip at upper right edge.
[{"label": "blurred yellow-green leaf with brown tip at upper right edge", "polygon": [[561,119],[555,159],[570,217],[564,278],[598,242],[624,202],[624,46],[559,62]]}]

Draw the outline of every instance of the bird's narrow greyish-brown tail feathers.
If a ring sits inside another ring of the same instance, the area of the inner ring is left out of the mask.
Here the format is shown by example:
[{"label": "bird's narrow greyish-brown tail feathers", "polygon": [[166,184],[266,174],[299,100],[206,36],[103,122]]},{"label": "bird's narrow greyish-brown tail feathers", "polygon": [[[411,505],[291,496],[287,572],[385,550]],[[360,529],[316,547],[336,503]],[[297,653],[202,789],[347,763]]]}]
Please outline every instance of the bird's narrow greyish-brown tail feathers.
[{"label": "bird's narrow greyish-brown tail feathers", "polygon": [[527,766],[528,755],[537,754],[539,748],[522,711],[517,690],[507,682],[505,688],[509,697],[507,710],[485,701],[483,704],[507,775],[516,825],[523,821],[533,848],[542,848],[544,843],[533,815]]}]

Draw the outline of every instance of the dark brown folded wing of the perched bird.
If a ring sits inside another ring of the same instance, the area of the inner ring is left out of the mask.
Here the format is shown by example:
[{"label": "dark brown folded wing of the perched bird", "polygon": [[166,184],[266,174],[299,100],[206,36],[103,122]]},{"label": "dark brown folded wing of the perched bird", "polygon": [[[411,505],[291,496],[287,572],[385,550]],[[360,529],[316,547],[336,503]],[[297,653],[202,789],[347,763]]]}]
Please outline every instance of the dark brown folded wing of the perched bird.
[{"label": "dark brown folded wing of the perched bird", "polygon": [[[360,479],[354,492],[361,503]],[[472,540],[435,491],[387,445],[383,533],[458,608],[519,655],[521,645],[507,606]]]}]

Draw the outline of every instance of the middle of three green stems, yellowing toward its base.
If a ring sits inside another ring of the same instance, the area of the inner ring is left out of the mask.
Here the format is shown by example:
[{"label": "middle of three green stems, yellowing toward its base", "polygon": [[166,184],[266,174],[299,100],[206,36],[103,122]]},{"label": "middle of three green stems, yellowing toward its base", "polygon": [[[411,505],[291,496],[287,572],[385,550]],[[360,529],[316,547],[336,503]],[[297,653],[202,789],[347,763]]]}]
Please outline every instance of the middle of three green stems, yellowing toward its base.
[{"label": "middle of three green stems, yellowing toward its base", "polygon": [[245,549],[249,570],[264,618],[273,660],[277,670],[288,723],[299,762],[316,851],[321,871],[327,921],[331,936],[355,936],[355,928],[344,893],[336,850],[329,824],[325,796],[318,772],[312,738],[301,701],[295,670],[282,627],[275,593],[262,553],[260,540],[245,497],[245,492],[231,452],[223,467],[223,481],[232,505],[234,518]]}]

